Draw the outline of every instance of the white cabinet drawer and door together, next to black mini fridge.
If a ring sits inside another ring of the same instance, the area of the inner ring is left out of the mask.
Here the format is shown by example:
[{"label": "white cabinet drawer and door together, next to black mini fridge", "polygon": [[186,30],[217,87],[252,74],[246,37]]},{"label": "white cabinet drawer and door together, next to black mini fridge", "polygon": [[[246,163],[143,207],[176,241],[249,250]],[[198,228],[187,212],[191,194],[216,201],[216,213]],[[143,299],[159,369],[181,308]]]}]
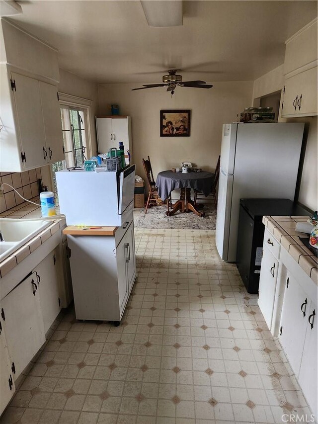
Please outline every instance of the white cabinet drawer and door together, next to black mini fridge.
[{"label": "white cabinet drawer and door together, next to black mini fridge", "polygon": [[257,303],[270,330],[279,269],[279,248],[278,241],[265,229]]}]

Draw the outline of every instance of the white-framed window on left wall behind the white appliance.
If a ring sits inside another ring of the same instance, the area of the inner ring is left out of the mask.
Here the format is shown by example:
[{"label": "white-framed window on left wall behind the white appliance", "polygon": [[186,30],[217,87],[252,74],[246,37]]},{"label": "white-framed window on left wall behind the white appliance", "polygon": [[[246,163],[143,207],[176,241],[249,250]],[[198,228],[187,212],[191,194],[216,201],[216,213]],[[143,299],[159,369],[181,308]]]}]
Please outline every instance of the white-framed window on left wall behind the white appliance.
[{"label": "white-framed window on left wall behind the white appliance", "polygon": [[[71,99],[62,93],[62,98]],[[61,99],[61,94],[60,94]],[[90,101],[82,99],[85,103]],[[66,103],[67,101],[65,101]],[[64,103],[64,102],[61,102]],[[70,102],[71,103],[71,102]],[[88,108],[77,105],[61,104],[61,120],[65,160],[52,164],[52,179],[54,191],[57,191],[55,172],[68,168],[82,167],[89,154]]]}]

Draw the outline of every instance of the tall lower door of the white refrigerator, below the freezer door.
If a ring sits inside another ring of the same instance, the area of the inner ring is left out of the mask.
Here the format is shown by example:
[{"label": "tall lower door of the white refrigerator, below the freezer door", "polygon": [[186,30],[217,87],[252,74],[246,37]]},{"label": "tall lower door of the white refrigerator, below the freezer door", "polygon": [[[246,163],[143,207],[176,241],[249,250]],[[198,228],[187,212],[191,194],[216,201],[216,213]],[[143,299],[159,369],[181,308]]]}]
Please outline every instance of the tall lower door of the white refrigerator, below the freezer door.
[{"label": "tall lower door of the white refrigerator, below the freezer door", "polygon": [[228,259],[232,190],[233,175],[227,175],[221,170],[215,241],[217,250],[223,260]]}]

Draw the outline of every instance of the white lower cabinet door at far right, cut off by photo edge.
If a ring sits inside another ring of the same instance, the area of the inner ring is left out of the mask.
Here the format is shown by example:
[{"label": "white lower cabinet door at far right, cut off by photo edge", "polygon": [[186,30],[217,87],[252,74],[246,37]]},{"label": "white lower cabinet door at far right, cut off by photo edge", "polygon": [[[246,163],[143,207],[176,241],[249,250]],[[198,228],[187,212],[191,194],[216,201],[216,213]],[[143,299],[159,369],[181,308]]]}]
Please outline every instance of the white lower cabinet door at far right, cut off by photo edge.
[{"label": "white lower cabinet door at far right, cut off by photo edge", "polygon": [[306,314],[306,336],[298,382],[303,389],[307,402],[316,418],[318,417],[318,327],[317,305],[314,302],[308,307]]}]

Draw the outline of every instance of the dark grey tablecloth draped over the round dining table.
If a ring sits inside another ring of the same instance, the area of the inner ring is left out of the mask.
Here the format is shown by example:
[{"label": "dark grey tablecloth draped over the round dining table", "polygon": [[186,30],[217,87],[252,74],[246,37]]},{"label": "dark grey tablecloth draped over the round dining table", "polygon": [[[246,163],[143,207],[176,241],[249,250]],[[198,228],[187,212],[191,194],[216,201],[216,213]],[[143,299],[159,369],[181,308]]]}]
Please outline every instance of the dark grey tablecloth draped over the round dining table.
[{"label": "dark grey tablecloth draped over the round dining table", "polygon": [[214,181],[214,173],[201,172],[159,172],[156,180],[158,194],[162,200],[165,200],[171,191],[176,188],[196,188],[202,191],[205,196],[211,192],[211,187]]}]

